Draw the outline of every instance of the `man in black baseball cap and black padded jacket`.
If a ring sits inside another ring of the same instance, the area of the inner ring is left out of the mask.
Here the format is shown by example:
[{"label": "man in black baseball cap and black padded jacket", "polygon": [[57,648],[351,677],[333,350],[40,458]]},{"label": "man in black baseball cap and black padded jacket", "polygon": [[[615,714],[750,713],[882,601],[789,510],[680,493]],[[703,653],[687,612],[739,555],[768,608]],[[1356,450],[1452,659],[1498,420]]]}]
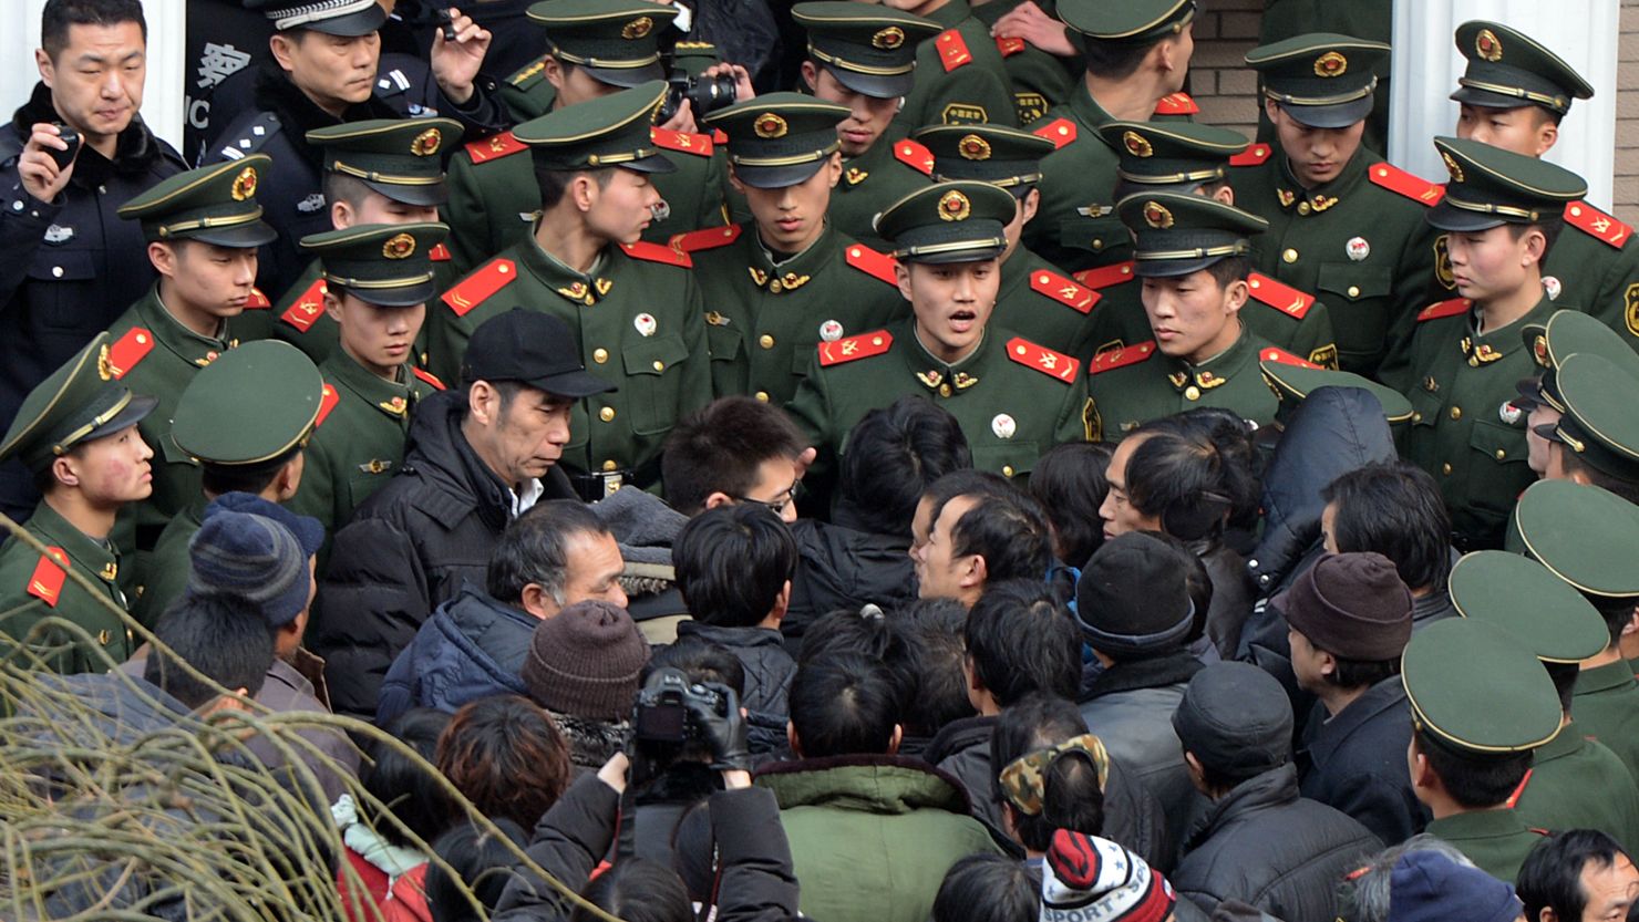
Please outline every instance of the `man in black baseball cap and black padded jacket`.
[{"label": "man in black baseball cap and black padded jacket", "polygon": [[557,467],[570,408],[611,390],[557,318],[516,308],[472,332],[461,386],[416,405],[398,477],[336,532],[308,647],[338,714],[375,714],[393,657],[462,581],[484,585],[506,522],[575,496]]}]

